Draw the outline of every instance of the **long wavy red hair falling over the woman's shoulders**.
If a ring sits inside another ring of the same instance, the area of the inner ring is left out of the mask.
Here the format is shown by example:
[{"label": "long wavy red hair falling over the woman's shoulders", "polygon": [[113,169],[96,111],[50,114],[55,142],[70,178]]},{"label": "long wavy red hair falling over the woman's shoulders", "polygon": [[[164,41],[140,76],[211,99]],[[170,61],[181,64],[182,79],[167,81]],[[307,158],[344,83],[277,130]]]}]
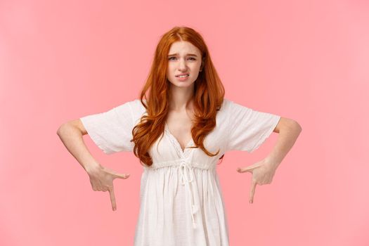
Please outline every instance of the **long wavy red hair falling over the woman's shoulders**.
[{"label": "long wavy red hair falling over the woman's shoulders", "polygon": [[[174,27],[164,33],[157,44],[148,79],[141,91],[141,103],[146,108],[147,115],[143,115],[141,122],[132,130],[131,142],[134,142],[134,155],[140,159],[141,164],[147,166],[153,164],[148,150],[162,135],[169,112],[168,102],[171,95],[170,82],[167,80],[167,56],[171,44],[176,41],[190,42],[200,50],[202,55],[203,68],[194,82],[193,97],[195,122],[191,134],[196,146],[189,148],[201,148],[209,156],[219,153],[219,150],[214,154],[209,153],[203,141],[216,126],[216,111],[221,108],[224,101],[224,86],[201,35],[190,27]],[[223,157],[224,155],[219,159]]]}]

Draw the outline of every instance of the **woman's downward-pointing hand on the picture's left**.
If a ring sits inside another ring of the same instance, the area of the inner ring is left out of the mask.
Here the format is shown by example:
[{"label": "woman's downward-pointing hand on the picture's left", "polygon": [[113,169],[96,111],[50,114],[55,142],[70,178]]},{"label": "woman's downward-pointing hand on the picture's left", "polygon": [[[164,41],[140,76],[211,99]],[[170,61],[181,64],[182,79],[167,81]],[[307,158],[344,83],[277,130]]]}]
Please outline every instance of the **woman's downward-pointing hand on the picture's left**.
[{"label": "woman's downward-pointing hand on the picture's left", "polygon": [[109,190],[110,202],[112,203],[112,211],[117,210],[117,204],[115,202],[114,186],[112,181],[118,179],[128,179],[129,174],[118,174],[116,171],[98,165],[96,168],[87,171],[90,177],[90,183],[93,190],[102,190],[105,192]]}]

